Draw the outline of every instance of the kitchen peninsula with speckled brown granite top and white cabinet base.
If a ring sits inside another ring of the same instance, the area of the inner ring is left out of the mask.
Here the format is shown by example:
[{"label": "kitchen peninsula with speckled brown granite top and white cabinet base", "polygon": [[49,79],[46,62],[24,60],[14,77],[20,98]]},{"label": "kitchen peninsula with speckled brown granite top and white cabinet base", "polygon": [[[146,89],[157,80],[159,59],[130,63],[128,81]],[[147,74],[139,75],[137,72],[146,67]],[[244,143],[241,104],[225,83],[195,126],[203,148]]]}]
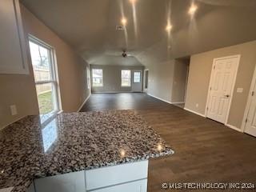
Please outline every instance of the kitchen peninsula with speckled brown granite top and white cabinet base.
[{"label": "kitchen peninsula with speckled brown granite top and white cabinet base", "polygon": [[148,159],[174,154],[136,110],[27,116],[0,130],[0,189],[146,191]]}]

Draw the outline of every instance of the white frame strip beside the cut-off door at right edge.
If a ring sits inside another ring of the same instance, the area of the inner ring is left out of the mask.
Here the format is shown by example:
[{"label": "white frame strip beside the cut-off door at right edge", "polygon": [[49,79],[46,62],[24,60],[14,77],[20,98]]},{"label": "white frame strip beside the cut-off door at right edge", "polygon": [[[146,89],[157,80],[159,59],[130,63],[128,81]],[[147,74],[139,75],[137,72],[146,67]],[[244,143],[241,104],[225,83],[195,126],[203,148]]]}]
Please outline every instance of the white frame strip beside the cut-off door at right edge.
[{"label": "white frame strip beside the cut-off door at right edge", "polygon": [[242,118],[242,127],[241,127],[242,133],[244,133],[245,130],[246,130],[246,118],[248,117],[248,114],[249,114],[250,102],[251,102],[251,98],[252,98],[251,94],[252,94],[252,91],[254,90],[255,84],[256,84],[256,66],[254,67],[254,75],[253,75],[253,78],[250,82],[250,90],[249,90],[249,94],[248,94],[248,97],[247,97],[246,110],[245,110],[245,113],[244,113],[243,118]]}]

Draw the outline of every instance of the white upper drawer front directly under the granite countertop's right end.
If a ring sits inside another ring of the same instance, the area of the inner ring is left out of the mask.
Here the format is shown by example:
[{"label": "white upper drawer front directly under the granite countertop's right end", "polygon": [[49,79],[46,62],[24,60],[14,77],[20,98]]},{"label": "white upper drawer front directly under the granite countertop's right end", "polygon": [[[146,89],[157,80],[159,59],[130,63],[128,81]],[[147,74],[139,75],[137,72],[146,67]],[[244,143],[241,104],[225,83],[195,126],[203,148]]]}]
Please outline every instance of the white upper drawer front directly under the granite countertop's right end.
[{"label": "white upper drawer front directly under the granite countertop's right end", "polygon": [[147,178],[148,161],[86,170],[86,189],[94,190]]}]

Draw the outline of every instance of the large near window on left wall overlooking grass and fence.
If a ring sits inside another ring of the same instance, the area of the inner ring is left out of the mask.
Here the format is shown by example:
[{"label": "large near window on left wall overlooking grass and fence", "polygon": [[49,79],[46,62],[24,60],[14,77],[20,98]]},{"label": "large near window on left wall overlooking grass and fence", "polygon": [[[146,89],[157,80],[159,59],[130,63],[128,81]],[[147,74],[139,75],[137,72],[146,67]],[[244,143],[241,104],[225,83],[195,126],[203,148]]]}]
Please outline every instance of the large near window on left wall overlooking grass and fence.
[{"label": "large near window on left wall overlooking grass and fence", "polygon": [[59,110],[58,83],[54,67],[54,50],[30,37],[30,56],[40,114],[55,114]]}]

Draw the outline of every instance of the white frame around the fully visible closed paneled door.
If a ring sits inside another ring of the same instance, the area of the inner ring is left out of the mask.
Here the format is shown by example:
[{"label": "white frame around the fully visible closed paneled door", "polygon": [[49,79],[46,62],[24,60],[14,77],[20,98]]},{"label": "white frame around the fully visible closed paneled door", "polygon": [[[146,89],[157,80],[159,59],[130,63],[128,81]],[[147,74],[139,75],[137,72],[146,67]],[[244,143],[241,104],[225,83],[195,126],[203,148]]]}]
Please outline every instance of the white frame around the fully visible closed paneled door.
[{"label": "white frame around the fully visible closed paneled door", "polygon": [[225,119],[225,122],[224,122],[224,125],[227,125],[227,121],[228,121],[228,118],[230,116],[230,106],[231,106],[231,102],[232,102],[232,99],[233,99],[233,94],[234,94],[234,86],[235,86],[235,82],[237,81],[237,75],[238,75],[238,67],[240,65],[240,58],[241,58],[241,54],[234,54],[234,55],[230,55],[230,56],[226,56],[226,57],[221,57],[221,58],[214,58],[213,60],[213,64],[212,64],[212,67],[211,67],[211,72],[210,72],[210,82],[209,82],[209,86],[208,86],[208,93],[207,93],[207,100],[206,100],[206,109],[205,109],[205,116],[207,118],[207,113],[208,113],[208,106],[209,106],[209,102],[210,102],[210,85],[211,83],[213,82],[213,78],[214,78],[214,63],[219,60],[219,59],[226,59],[226,58],[238,58],[238,65],[234,71],[234,82],[233,82],[233,85],[232,85],[232,88],[231,88],[231,93],[230,93],[230,102],[228,104],[228,108],[227,108],[227,112],[226,112],[226,119]]}]

